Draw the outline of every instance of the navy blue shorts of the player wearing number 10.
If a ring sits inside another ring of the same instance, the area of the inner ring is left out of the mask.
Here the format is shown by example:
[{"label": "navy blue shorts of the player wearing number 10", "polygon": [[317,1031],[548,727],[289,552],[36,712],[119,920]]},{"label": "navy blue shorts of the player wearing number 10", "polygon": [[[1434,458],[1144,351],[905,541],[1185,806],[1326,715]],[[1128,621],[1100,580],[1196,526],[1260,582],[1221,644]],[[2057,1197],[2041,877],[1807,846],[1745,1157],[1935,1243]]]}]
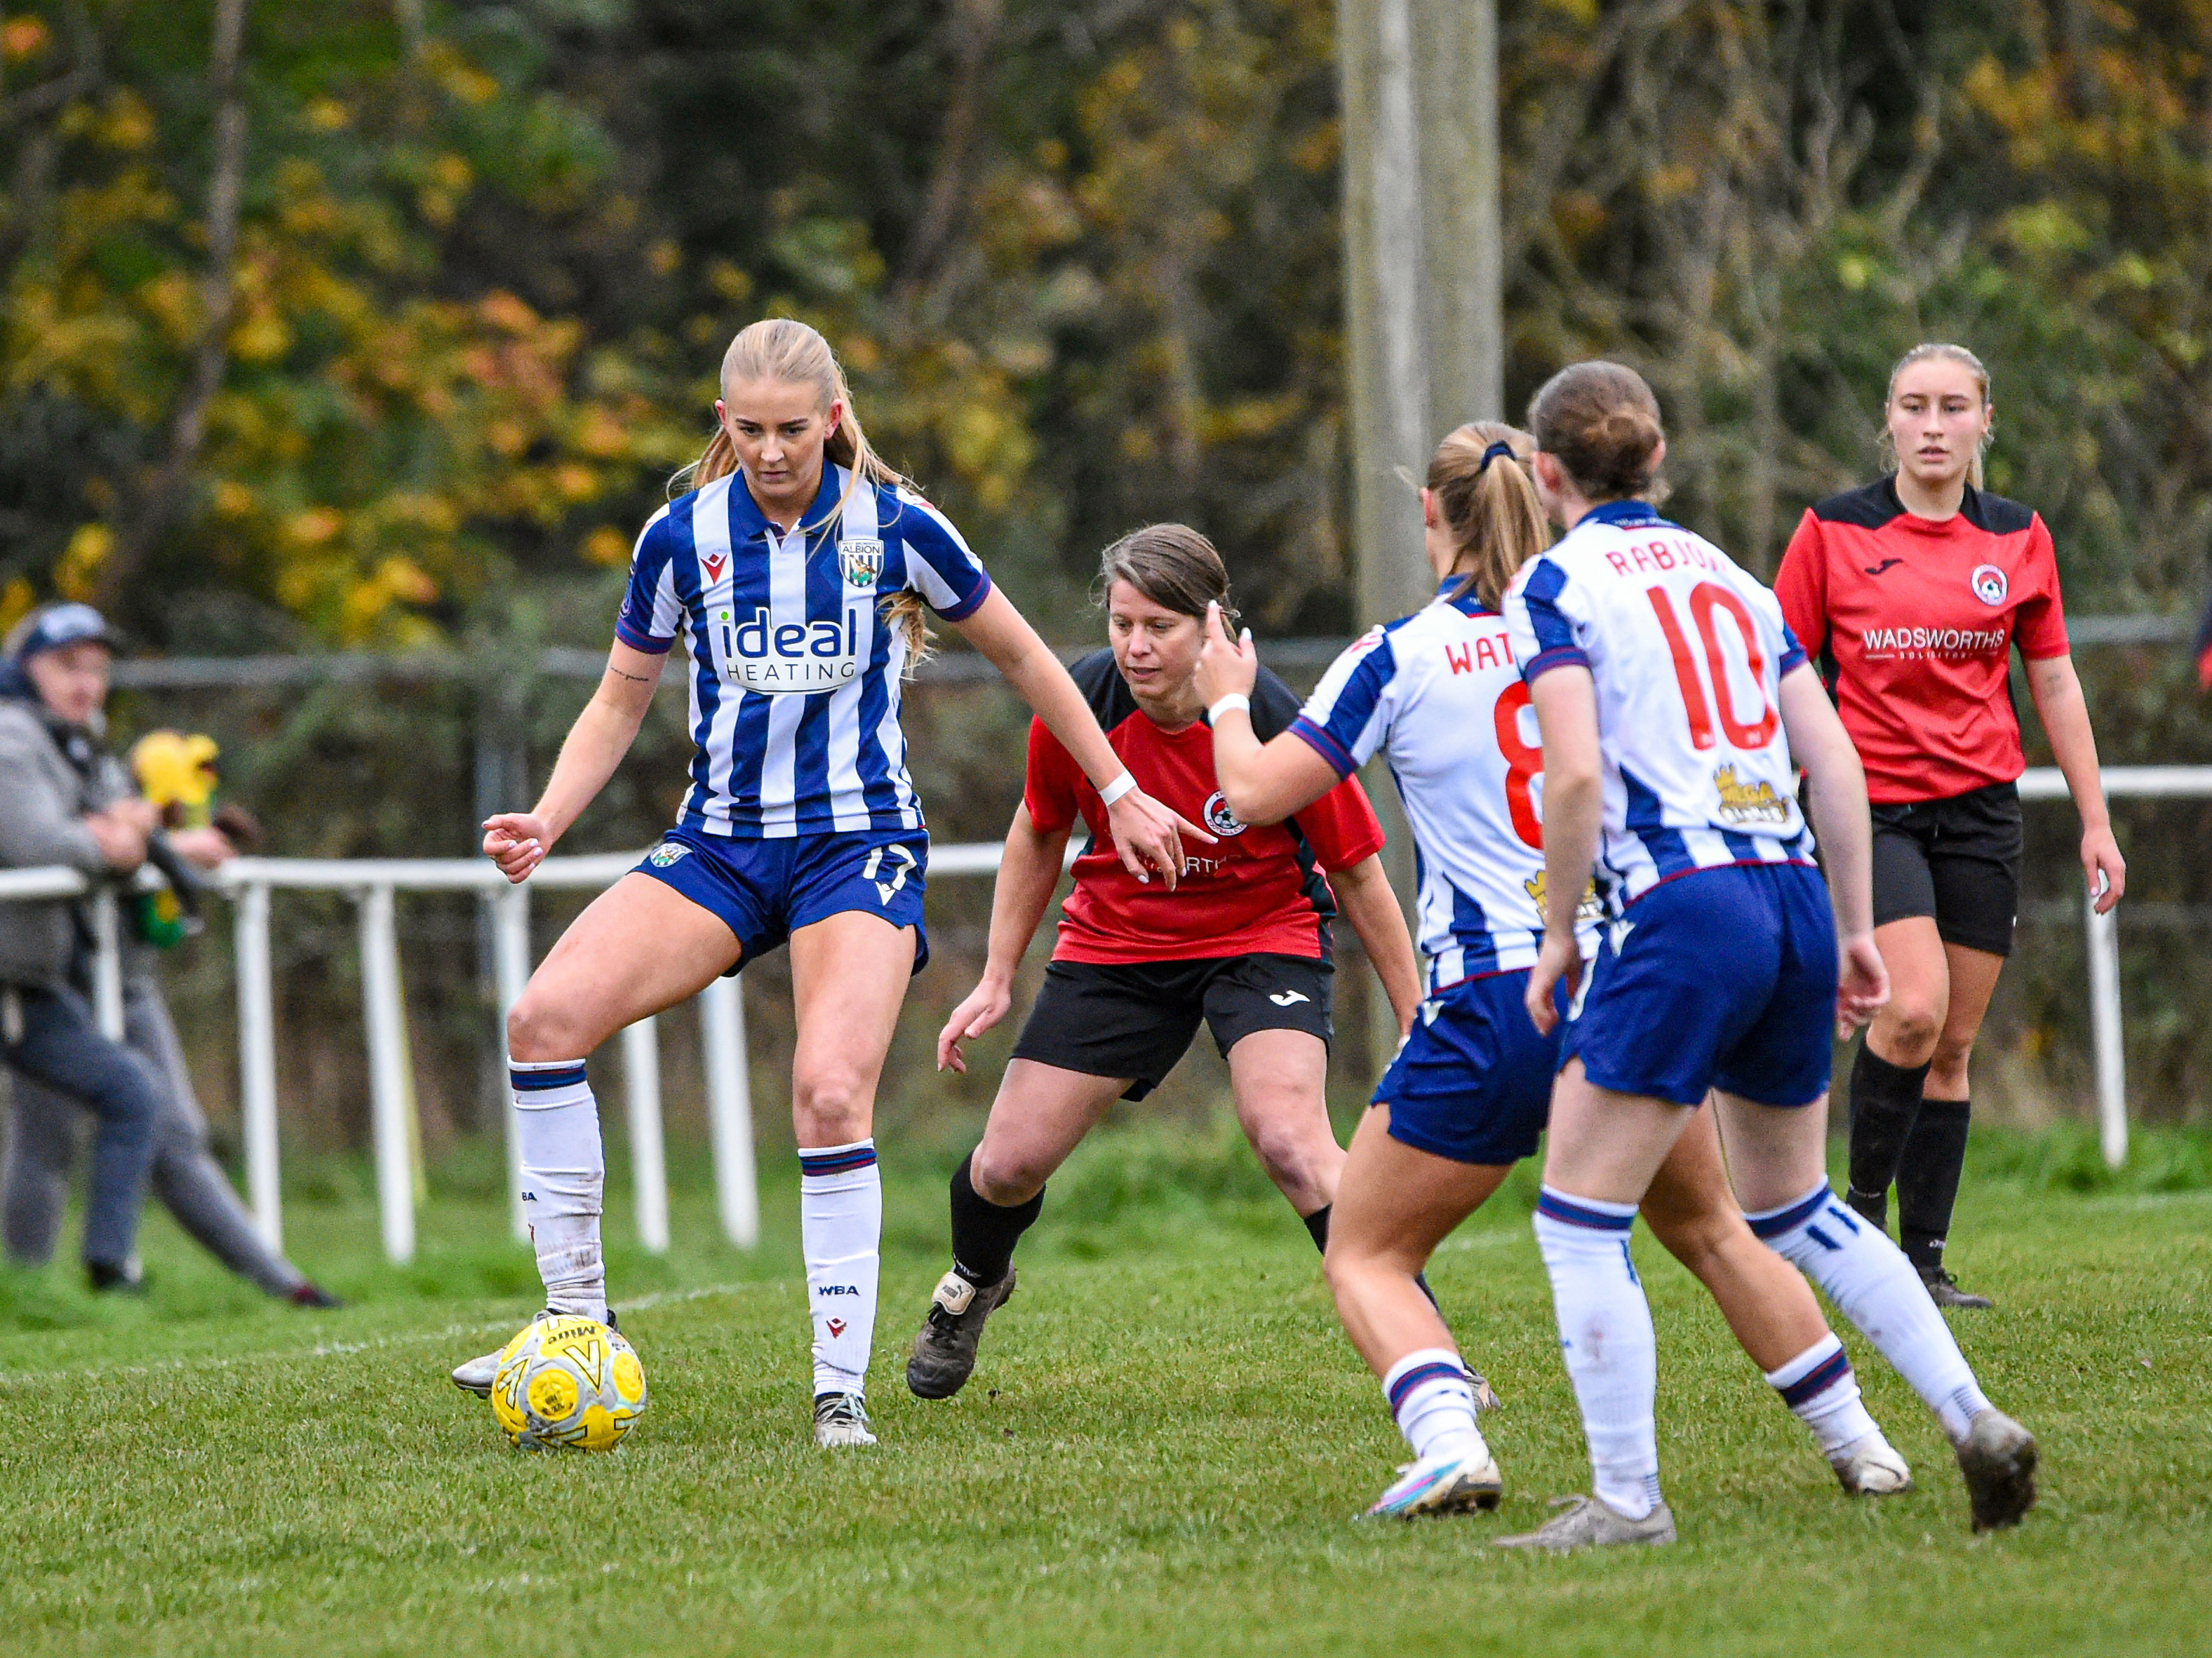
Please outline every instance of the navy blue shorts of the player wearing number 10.
[{"label": "navy blue shorts of the player wearing number 10", "polygon": [[1827,1094],[1836,915],[1807,864],[1728,864],[1659,882],[1606,926],[1564,1066],[1593,1083],[1699,1105]]}]

